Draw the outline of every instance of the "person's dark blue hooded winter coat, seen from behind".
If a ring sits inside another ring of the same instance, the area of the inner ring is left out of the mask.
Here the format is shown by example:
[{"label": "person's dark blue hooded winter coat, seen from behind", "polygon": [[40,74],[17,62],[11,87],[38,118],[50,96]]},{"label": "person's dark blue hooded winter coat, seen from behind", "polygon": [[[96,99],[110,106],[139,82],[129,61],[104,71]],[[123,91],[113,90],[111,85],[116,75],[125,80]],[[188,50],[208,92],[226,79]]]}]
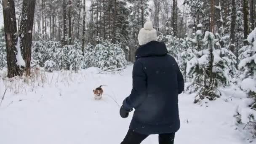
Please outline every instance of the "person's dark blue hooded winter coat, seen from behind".
[{"label": "person's dark blue hooded winter coat, seen from behind", "polygon": [[130,128],[138,133],[172,133],[180,128],[178,94],[184,91],[184,79],[167,53],[165,44],[157,41],[136,51],[133,88],[123,106],[135,109]]}]

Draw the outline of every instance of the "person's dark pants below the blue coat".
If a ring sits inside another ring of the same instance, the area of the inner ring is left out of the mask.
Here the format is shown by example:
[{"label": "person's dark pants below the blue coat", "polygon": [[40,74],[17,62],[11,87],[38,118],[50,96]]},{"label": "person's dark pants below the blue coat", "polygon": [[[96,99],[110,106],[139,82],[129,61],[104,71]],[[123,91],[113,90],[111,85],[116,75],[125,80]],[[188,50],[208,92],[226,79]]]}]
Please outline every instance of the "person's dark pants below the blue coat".
[{"label": "person's dark pants below the blue coat", "polygon": [[[133,130],[129,129],[128,133],[125,136],[125,139],[121,144],[140,144],[148,136],[149,135],[136,133]],[[160,134],[158,137],[159,144],[174,144],[174,136],[175,133]]]}]

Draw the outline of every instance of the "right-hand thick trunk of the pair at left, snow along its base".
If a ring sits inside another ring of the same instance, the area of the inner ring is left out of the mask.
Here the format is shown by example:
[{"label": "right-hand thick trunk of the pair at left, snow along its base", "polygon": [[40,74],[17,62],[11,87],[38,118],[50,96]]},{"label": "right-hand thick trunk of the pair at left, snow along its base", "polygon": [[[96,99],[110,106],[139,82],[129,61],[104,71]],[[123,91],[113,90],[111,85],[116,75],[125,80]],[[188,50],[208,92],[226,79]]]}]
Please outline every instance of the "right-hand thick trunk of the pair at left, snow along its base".
[{"label": "right-hand thick trunk of the pair at left, snow along its base", "polygon": [[[20,26],[20,48],[22,57],[26,63],[26,75],[30,75],[32,31],[35,14],[35,0],[23,0],[21,26]],[[23,72],[22,72],[23,73]],[[20,75],[22,75],[22,73]]]}]

